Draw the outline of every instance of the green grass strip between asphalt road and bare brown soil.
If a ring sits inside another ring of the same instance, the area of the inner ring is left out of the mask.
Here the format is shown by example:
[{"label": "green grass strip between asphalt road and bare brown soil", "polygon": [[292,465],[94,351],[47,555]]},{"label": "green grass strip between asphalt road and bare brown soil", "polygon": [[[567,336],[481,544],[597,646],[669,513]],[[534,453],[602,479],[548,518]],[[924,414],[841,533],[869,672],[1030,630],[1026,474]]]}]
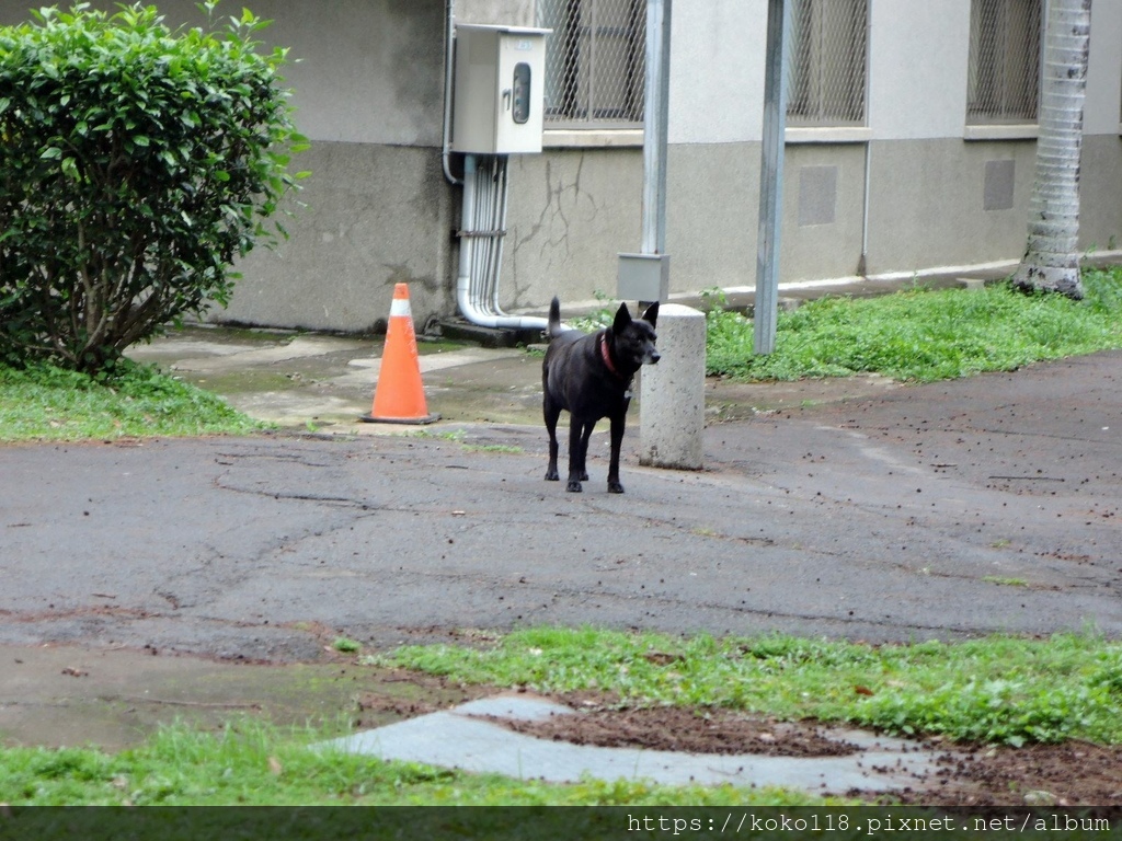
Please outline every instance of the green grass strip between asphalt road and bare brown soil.
[{"label": "green grass strip between asphalt road and bare brown soil", "polygon": [[1122,743],[1122,644],[1091,635],[871,646],[543,628],[490,647],[406,646],[374,662],[465,683],[595,690],[627,704],[728,708],[960,741]]}]

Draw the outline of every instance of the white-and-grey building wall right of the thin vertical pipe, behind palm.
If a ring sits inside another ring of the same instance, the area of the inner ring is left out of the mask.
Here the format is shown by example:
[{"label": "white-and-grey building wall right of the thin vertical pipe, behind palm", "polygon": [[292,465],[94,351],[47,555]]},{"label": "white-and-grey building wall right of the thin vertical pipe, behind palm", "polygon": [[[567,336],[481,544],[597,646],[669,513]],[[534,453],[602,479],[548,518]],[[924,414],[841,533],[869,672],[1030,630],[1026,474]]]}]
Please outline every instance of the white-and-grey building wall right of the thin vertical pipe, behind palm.
[{"label": "white-and-grey building wall right of the thin vertical pipe, behind palm", "polygon": [[[1080,248],[1122,232],[1122,2],[1094,6]],[[967,139],[969,0],[871,0],[870,272],[1017,260],[1036,141]]]}]

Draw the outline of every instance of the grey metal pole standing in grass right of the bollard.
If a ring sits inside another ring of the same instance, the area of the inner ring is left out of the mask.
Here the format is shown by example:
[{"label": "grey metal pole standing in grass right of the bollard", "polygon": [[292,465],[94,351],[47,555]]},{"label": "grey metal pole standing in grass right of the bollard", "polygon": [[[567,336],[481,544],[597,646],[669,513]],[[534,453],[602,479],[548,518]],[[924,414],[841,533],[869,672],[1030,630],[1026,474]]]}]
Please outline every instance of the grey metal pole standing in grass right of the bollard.
[{"label": "grey metal pole standing in grass right of the bollard", "polygon": [[780,231],[783,212],[783,135],[787,128],[787,34],[791,3],[767,0],[764,133],[760,161],[760,232],[756,237],[754,350],[775,350]]}]

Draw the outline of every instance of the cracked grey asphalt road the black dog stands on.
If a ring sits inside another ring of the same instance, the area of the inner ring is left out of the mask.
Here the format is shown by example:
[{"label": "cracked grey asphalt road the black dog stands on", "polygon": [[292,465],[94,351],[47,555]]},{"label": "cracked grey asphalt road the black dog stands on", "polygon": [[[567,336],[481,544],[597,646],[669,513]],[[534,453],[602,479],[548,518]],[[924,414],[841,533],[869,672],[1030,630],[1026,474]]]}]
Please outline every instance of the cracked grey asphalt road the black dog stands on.
[{"label": "cracked grey asphalt road the black dog stands on", "polygon": [[[582,495],[545,435],[0,447],[0,643],[314,659],[453,629],[1122,637],[1122,354],[761,414]],[[628,450],[628,445],[631,449]]]}]

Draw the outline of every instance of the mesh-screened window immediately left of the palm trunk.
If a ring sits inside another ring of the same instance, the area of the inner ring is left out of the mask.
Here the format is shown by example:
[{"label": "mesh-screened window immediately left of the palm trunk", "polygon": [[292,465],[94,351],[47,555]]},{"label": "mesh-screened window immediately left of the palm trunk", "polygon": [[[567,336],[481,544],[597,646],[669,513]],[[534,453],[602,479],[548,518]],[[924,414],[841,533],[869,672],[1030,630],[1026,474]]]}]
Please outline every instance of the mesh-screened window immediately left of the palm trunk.
[{"label": "mesh-screened window immediately left of the palm trunk", "polygon": [[1042,0],[972,0],[968,123],[1037,121]]}]

